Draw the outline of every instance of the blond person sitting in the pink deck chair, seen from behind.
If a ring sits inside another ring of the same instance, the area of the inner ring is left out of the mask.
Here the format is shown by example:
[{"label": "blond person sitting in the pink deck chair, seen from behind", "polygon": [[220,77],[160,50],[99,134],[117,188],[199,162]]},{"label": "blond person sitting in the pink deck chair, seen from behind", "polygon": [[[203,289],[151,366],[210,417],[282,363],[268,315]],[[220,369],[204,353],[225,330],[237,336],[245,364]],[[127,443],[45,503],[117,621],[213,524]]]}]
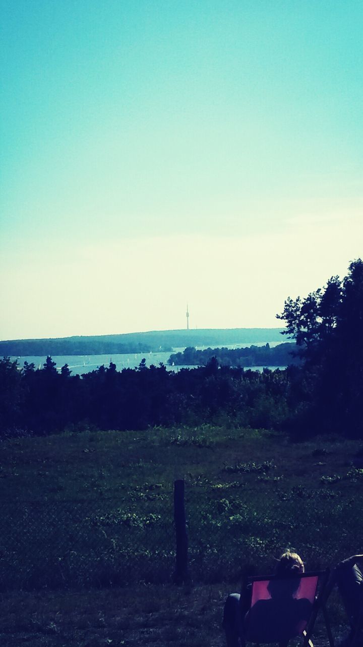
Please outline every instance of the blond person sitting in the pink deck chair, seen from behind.
[{"label": "blond person sitting in the pink deck chair, seen from behind", "polygon": [[[299,575],[304,571],[304,563],[300,556],[287,551],[277,560],[275,569],[276,576],[286,578],[286,586],[278,586],[275,580],[271,580],[267,587],[271,596],[268,600],[258,600],[251,607],[251,585],[249,590],[243,591],[244,599],[238,593],[231,593],[225,602],[222,623],[227,647],[238,647],[239,639],[244,644],[244,635],[245,631],[248,631],[249,624],[260,622],[260,618],[264,619],[264,626],[270,637],[274,631],[276,636],[280,636],[282,626],[286,637],[294,635],[294,628],[300,621],[307,620],[311,613],[309,600],[293,597],[300,580],[291,576]],[[263,633],[263,626],[261,631]],[[262,638],[260,640],[263,642]],[[279,638],[276,637],[276,641],[278,640]]]}]

